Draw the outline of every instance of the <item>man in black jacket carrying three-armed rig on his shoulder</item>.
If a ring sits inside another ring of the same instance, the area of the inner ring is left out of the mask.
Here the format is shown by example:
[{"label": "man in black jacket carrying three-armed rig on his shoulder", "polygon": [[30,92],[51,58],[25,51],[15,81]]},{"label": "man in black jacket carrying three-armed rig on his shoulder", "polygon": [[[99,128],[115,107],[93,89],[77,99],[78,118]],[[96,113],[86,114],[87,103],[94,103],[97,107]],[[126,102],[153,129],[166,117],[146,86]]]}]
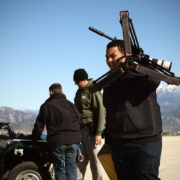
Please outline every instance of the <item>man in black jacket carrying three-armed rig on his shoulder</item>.
[{"label": "man in black jacket carrying three-armed rig on his shoulder", "polygon": [[[124,55],[123,41],[110,42],[106,49],[109,68],[124,63]],[[160,81],[132,70],[122,72],[103,92],[105,142],[112,148],[117,178],[159,180],[162,120],[156,88]]]}]

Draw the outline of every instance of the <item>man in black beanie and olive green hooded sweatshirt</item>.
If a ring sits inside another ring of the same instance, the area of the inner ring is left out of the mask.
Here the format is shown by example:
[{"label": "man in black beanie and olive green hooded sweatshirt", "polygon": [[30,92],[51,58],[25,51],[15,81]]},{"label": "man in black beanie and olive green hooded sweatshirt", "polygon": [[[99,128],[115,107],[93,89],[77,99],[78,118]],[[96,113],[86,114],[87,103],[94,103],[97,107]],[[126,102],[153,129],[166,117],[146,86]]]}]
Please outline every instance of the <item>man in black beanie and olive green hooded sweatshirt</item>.
[{"label": "man in black beanie and olive green hooded sweatshirt", "polygon": [[80,113],[82,131],[82,154],[84,161],[77,164],[78,180],[83,180],[90,161],[93,180],[102,180],[101,163],[97,157],[101,149],[101,133],[104,128],[105,111],[101,92],[91,94],[88,87],[93,79],[88,79],[84,69],[74,71],[73,80],[78,86],[74,102]]}]

